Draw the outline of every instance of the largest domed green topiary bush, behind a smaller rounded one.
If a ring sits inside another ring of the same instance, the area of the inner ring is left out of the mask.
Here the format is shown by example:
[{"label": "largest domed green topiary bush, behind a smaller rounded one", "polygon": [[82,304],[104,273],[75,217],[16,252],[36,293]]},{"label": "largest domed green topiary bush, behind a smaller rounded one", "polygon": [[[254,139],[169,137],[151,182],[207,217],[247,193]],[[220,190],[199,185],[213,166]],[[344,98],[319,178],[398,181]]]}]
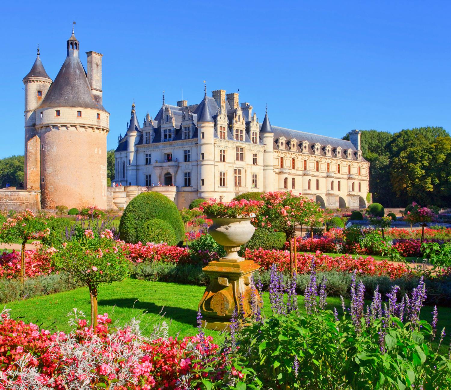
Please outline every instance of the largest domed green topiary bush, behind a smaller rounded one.
[{"label": "largest domed green topiary bush, behind a smaller rounded one", "polygon": [[134,197],[120,218],[120,239],[125,242],[138,242],[138,234],[149,220],[166,221],[175,233],[175,243],[181,244],[184,238],[184,225],[175,203],[161,193],[145,192]]}]

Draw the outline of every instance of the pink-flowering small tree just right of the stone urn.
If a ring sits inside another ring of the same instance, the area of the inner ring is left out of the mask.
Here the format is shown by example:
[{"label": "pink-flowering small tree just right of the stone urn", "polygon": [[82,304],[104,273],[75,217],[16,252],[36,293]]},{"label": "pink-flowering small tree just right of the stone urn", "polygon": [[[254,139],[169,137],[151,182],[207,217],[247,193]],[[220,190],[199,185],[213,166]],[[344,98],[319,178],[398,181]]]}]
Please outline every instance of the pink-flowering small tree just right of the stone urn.
[{"label": "pink-flowering small tree just right of the stone urn", "polygon": [[290,273],[293,272],[293,238],[298,226],[310,224],[311,218],[322,223],[322,211],[313,199],[299,197],[291,191],[275,191],[262,195],[263,209],[256,224],[276,232],[284,232],[290,242]]}]

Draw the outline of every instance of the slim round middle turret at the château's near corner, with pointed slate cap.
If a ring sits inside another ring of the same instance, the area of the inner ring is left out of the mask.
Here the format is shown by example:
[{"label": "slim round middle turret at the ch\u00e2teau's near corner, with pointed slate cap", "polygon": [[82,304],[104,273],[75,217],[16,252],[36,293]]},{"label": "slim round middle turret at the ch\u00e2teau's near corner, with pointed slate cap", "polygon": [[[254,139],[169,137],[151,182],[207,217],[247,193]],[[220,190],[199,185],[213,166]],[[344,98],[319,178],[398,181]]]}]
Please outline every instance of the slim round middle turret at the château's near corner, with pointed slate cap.
[{"label": "slim round middle turret at the ch\u00e2teau's near corner, with pointed slate cap", "polygon": [[[214,103],[214,102],[213,102]],[[214,120],[207,99],[207,85],[204,98],[199,104],[198,120],[198,197],[209,199],[215,196],[215,149]]]}]

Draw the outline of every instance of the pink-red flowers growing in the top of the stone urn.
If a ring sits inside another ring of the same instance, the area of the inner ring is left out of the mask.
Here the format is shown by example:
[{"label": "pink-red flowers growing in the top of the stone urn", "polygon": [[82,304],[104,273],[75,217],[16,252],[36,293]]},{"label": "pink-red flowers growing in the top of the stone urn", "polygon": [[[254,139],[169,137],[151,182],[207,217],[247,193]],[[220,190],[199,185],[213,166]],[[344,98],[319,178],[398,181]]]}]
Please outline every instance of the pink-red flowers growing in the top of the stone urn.
[{"label": "pink-red flowers growing in the top of the stone urn", "polygon": [[237,218],[239,216],[249,216],[258,214],[263,202],[241,199],[239,201],[230,201],[229,203],[218,202],[216,199],[210,199],[199,205],[198,209],[206,215],[220,218]]}]

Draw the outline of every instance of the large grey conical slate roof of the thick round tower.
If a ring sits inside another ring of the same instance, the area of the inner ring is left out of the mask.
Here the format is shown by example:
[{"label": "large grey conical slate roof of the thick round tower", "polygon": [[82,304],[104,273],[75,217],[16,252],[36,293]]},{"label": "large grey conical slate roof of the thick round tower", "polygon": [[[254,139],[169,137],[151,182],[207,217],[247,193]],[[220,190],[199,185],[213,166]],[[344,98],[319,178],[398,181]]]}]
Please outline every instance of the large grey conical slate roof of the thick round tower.
[{"label": "large grey conical slate roof of the thick round tower", "polygon": [[94,98],[80,59],[72,56],[65,59],[40,107],[81,107],[106,111]]}]

